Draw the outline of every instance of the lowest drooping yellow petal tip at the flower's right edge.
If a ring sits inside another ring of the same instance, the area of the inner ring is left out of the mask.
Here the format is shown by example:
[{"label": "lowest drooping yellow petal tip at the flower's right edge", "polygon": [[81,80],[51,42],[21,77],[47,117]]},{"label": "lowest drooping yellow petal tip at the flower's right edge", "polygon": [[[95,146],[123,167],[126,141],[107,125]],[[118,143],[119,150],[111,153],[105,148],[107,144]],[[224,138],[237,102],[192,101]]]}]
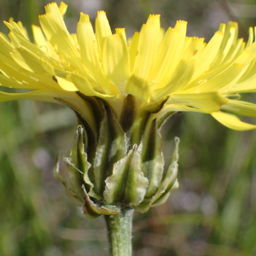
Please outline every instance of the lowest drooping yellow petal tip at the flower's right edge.
[{"label": "lowest drooping yellow petal tip at the flower's right edge", "polygon": [[217,119],[221,124],[229,127],[230,129],[237,131],[247,131],[256,129],[256,125],[247,124],[242,122],[235,114],[215,112],[212,113],[212,117]]}]

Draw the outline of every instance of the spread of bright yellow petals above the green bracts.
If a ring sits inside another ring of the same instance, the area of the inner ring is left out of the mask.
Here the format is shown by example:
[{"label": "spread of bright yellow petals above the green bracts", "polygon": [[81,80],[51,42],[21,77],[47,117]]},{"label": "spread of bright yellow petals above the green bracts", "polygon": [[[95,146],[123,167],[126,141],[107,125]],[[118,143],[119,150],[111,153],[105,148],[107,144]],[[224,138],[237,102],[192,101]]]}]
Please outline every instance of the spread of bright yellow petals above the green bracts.
[{"label": "spread of bright yellow petals above the green bracts", "polygon": [[119,117],[131,95],[137,109],[162,104],[159,115],[210,113],[235,130],[256,128],[231,114],[256,116],[256,105],[232,100],[239,99],[238,93],[256,91],[252,28],[246,44],[237,38],[236,22],[221,24],[207,44],[204,38],[186,37],[186,21],[163,32],[160,15],[150,15],[127,44],[125,29],[113,34],[103,11],[97,14],[96,32],[81,13],[77,34],[70,34],[63,21],[66,9],[65,3],[45,7],[46,14],[39,16],[44,33],[32,26],[34,44],[20,22],[5,22],[10,32],[9,38],[0,35],[0,83],[31,91],[0,91],[0,101],[61,102],[94,129],[96,120],[83,96],[102,98]]}]

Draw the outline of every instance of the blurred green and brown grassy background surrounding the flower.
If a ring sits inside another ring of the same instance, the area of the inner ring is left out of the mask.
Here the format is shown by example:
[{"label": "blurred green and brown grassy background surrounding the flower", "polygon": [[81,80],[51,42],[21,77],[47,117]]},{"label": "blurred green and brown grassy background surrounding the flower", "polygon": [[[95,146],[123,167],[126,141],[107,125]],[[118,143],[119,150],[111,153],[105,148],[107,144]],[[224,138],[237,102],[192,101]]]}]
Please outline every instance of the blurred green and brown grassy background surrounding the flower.
[{"label": "blurred green and brown grassy background surrounding the flower", "polygon": [[[60,3],[60,1],[56,1]],[[10,16],[38,25],[47,1],[1,0],[0,20]],[[76,31],[79,12],[95,20],[107,11],[114,29],[128,36],[150,13],[163,27],[188,20],[188,35],[208,41],[221,22],[236,20],[240,36],[256,25],[255,0],[68,0],[65,21]],[[8,29],[0,26],[2,32]],[[29,32],[31,32],[29,30]],[[247,100],[256,102],[255,96]],[[59,105],[0,103],[0,255],[108,255],[103,218],[84,218],[53,177],[55,157],[73,144],[76,118]],[[135,256],[256,255],[256,131],[230,131],[210,116],[179,113],[162,131],[166,162],[181,138],[180,188],[165,205],[136,213]]]}]

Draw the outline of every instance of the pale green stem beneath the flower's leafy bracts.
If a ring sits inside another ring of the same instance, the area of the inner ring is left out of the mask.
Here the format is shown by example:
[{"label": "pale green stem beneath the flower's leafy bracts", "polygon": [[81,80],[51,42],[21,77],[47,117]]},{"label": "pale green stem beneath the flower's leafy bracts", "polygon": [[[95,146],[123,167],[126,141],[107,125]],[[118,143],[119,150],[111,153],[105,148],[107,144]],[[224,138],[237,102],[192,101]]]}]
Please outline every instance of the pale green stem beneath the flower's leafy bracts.
[{"label": "pale green stem beneath the flower's leafy bracts", "polygon": [[105,215],[110,256],[131,256],[133,211],[131,208],[124,208],[119,214]]}]

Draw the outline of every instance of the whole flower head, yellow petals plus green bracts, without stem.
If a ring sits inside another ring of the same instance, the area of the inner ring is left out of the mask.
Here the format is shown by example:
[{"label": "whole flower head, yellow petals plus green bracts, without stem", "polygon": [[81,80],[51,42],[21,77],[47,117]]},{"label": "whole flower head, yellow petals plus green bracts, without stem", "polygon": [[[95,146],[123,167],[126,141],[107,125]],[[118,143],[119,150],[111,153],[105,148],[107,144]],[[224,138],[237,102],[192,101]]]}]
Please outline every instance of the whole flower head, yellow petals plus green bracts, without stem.
[{"label": "whole flower head, yellow petals plus green bracts, without stem", "polygon": [[66,160],[69,178],[58,166],[55,176],[76,201],[85,201],[90,217],[115,214],[120,204],[145,212],[166,200],[177,185],[177,148],[164,172],[159,129],[172,113],[210,113],[232,129],[256,129],[231,114],[256,117],[256,105],[239,101],[239,93],[256,91],[252,28],[246,44],[236,22],[221,24],[207,44],[186,37],[186,21],[164,32],[160,15],[149,15],[127,43],[125,29],[113,34],[103,11],[95,32],[81,13],[77,34],[70,34],[66,9],[65,3],[45,7],[41,28],[32,26],[34,43],[20,22],[5,22],[10,32],[0,34],[0,84],[30,91],[0,91],[0,102],[57,102],[77,113],[82,126]]}]

